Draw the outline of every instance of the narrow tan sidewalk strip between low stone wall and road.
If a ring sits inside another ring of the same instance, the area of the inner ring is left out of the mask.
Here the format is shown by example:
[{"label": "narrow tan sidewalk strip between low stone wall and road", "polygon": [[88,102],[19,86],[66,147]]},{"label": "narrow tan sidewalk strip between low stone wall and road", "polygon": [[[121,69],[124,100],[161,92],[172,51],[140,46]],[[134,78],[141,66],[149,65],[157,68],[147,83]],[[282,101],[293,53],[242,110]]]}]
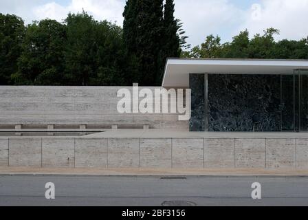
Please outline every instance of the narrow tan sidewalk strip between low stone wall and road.
[{"label": "narrow tan sidewalk strip between low stone wall and road", "polygon": [[159,169],[159,168],[30,168],[1,167],[0,175],[106,176],[308,176],[308,170],[289,169]]}]

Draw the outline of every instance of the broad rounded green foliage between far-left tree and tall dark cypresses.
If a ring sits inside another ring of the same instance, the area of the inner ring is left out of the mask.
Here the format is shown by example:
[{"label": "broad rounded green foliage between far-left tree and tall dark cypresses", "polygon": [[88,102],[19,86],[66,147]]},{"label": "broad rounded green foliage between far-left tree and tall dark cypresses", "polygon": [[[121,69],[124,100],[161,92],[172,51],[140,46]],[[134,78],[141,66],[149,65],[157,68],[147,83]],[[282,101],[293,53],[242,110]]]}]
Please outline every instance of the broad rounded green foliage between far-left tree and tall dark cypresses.
[{"label": "broad rounded green foliage between far-left tree and tall dark cypresses", "polygon": [[86,12],[28,25],[19,52],[8,72],[14,85],[131,85],[136,72],[122,28]]}]

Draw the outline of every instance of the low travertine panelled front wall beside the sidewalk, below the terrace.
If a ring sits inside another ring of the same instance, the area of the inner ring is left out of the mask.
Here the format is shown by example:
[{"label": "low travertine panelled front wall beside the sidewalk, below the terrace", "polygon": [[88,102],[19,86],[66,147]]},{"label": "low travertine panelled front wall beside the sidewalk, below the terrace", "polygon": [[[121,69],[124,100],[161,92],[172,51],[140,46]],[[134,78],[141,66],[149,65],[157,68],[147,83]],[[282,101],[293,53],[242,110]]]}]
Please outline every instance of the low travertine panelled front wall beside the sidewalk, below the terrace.
[{"label": "low travertine panelled front wall beside the sidewalk, below the terrace", "polygon": [[0,166],[308,168],[308,138],[0,137]]}]

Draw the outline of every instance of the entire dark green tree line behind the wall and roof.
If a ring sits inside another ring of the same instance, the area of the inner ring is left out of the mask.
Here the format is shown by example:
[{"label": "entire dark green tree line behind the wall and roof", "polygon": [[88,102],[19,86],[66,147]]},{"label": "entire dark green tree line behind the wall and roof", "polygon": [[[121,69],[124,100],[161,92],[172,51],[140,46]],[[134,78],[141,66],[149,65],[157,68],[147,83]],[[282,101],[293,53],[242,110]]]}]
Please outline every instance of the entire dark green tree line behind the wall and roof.
[{"label": "entire dark green tree line behind the wall and roof", "polygon": [[227,43],[211,34],[190,50],[174,12],[173,0],[127,0],[123,28],[87,12],[27,26],[0,14],[0,85],[154,86],[170,57],[308,59],[307,38],[275,41],[274,28]]}]

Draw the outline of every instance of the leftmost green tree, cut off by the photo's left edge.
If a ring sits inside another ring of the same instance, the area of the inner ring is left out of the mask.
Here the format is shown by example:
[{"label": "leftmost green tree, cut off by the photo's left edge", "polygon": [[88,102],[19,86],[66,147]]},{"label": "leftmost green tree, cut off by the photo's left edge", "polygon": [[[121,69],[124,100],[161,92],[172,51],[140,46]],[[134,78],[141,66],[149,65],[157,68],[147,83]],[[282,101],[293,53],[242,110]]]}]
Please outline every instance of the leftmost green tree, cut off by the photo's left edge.
[{"label": "leftmost green tree, cut off by the photo's left edge", "polygon": [[11,76],[18,69],[24,34],[25,25],[20,17],[0,14],[0,85],[12,85]]}]

